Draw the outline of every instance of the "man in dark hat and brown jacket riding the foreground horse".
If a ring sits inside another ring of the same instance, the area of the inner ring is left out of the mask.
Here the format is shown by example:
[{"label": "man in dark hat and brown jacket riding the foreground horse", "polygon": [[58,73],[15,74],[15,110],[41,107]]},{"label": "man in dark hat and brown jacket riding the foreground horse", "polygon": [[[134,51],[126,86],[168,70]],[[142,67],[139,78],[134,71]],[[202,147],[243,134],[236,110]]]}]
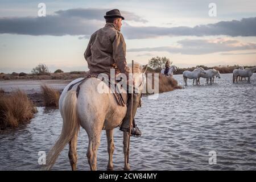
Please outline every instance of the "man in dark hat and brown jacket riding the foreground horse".
[{"label": "man in dark hat and brown jacket riding the foreground horse", "polygon": [[[88,63],[89,73],[106,73],[110,76],[110,69],[115,69],[115,75],[118,73],[124,73],[127,78],[127,84],[129,81],[129,73],[131,73],[126,63],[126,44],[121,31],[123,16],[119,10],[114,9],[106,12],[104,16],[106,19],[105,27],[100,28],[94,32],[90,37],[88,47],[85,50],[84,57]],[[131,79],[131,78],[130,78]],[[127,86],[129,88],[129,86]],[[133,127],[131,129],[131,135],[135,137],[141,136],[141,131],[135,125],[134,116],[139,106],[141,96],[139,94],[133,94],[133,103],[131,102],[131,94],[128,96],[127,101],[127,113],[123,118],[121,131],[129,132],[130,119],[133,119]],[[133,105],[133,106],[132,106]],[[133,108],[132,115],[129,114],[129,110]]]}]

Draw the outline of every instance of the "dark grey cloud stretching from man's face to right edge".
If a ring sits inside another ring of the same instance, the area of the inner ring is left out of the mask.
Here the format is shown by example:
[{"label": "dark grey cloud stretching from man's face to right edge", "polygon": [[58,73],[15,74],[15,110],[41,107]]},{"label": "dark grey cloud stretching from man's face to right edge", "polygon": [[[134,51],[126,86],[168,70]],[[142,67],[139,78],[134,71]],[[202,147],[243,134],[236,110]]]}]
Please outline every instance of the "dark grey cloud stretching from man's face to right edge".
[{"label": "dark grey cloud stretching from man's face to right edge", "polygon": [[129,39],[146,39],[159,36],[256,36],[256,17],[221,21],[195,27],[133,27],[123,28]]}]

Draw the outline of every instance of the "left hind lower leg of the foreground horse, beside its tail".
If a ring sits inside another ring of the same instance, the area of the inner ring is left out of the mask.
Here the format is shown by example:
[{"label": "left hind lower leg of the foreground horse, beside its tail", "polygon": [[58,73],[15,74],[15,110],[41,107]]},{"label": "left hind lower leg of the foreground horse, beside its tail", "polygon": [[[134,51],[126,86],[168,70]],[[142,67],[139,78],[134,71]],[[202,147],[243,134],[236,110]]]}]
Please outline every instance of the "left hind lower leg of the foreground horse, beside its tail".
[{"label": "left hind lower leg of the foreground horse, beside its tail", "polygon": [[78,137],[78,132],[74,135],[74,137],[68,143],[69,144],[68,158],[69,158],[69,162],[70,162],[72,171],[76,170],[76,163],[77,163],[77,151],[76,151],[77,137]]}]

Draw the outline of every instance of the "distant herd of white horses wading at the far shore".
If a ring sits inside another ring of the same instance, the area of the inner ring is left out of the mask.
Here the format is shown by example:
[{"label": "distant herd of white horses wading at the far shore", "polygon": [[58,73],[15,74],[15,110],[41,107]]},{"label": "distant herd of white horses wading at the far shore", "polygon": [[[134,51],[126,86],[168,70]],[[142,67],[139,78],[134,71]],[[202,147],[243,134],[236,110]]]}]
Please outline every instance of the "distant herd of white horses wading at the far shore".
[{"label": "distant herd of white horses wading at the far shore", "polygon": [[[172,65],[168,71],[167,74],[164,74],[164,70],[161,70],[161,73],[165,76],[173,76],[174,72],[177,71],[177,67],[175,65]],[[247,82],[250,82],[250,77],[253,75],[253,73],[256,71],[256,67],[253,68],[243,68],[240,67],[238,69],[233,70],[233,83],[236,81],[238,82],[238,79],[242,81],[242,78],[248,78]],[[183,79],[184,79],[184,84],[187,86],[187,80],[188,79],[193,79],[193,85],[200,85],[200,78],[206,78],[207,84],[212,85],[212,82],[214,83],[214,78],[218,77],[220,78],[220,72],[217,71],[216,69],[208,69],[204,70],[204,68],[196,68],[193,71],[184,71],[183,72]]]}]

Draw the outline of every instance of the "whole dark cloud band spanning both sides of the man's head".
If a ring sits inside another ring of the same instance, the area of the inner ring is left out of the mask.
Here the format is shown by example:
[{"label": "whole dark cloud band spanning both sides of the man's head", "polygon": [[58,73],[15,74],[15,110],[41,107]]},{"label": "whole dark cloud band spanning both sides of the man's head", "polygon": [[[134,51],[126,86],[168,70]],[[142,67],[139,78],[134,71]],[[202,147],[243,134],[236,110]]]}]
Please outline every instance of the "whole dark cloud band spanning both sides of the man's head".
[{"label": "whole dark cloud band spanning both sides of the man's head", "polygon": [[[0,34],[25,35],[91,35],[104,26],[108,9],[59,10],[46,17],[2,17]],[[146,23],[147,20],[129,11],[121,11],[126,20]],[[146,39],[159,36],[256,36],[256,17],[221,21],[195,27],[131,26],[123,23],[123,35],[128,39]]]}]

